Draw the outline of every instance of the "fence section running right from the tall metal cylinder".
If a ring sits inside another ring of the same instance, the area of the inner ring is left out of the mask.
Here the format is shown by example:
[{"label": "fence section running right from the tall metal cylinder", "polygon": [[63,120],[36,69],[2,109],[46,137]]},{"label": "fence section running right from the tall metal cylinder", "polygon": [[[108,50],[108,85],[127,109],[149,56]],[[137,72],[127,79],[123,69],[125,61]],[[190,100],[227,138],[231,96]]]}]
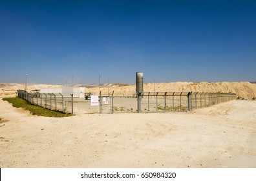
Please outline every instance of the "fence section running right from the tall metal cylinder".
[{"label": "fence section running right from the tall metal cylinder", "polygon": [[224,101],[235,100],[233,93],[144,92],[140,112],[192,111]]}]

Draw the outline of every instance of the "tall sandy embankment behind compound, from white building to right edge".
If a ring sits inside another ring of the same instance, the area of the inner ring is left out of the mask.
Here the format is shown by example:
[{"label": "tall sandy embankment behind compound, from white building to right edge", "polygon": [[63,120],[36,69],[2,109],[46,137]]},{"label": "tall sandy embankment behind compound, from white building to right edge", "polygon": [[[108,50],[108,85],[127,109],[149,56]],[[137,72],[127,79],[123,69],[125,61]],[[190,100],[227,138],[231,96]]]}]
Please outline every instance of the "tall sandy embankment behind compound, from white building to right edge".
[{"label": "tall sandy embankment behind compound, from white building to right edge", "polygon": [[[88,89],[87,91],[92,92],[93,94],[99,94],[99,87],[94,87]],[[192,83],[190,82],[173,82],[173,83],[147,83],[144,84],[144,91],[156,91],[156,92],[187,92],[192,90],[193,92],[233,92],[237,94],[237,98],[244,100],[253,100],[256,99],[256,84],[250,83],[248,81],[244,82],[200,82]],[[86,92],[87,92],[86,91]],[[136,91],[135,85],[127,86],[118,86],[112,85],[109,87],[101,87],[101,94],[112,94],[114,91],[114,96],[133,96]]]}]

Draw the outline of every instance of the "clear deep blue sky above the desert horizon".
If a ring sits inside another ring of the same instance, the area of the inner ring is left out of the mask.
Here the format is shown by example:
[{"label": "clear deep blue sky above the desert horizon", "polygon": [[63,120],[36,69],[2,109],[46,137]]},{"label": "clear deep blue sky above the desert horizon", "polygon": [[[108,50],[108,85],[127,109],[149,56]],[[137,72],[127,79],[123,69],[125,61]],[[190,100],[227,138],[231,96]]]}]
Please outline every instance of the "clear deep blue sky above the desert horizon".
[{"label": "clear deep blue sky above the desert horizon", "polygon": [[0,1],[0,82],[256,81],[256,1]]}]

